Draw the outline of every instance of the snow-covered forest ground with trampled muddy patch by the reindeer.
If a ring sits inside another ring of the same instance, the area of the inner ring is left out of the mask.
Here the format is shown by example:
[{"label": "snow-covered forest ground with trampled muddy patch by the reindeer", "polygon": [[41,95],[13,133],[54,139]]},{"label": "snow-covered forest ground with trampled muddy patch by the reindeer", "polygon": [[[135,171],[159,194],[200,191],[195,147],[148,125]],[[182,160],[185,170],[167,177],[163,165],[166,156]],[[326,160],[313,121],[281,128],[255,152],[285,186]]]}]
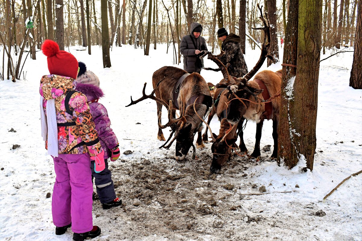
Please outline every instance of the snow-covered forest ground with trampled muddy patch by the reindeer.
[{"label": "snow-covered forest ground with trampled muddy patch by the reindeer", "polygon": [[[268,159],[271,151],[262,151],[259,162],[236,156],[221,174],[211,175],[211,144],[197,150],[199,160],[189,154],[177,162],[174,145],[158,149],[162,142],[156,138],[154,101],[125,107],[130,95],[142,95],[144,82],[146,92],[152,91],[155,70],[172,65],[171,47],[166,55],[166,46],[158,45],[150,56],[131,46],[113,47],[112,67],[106,69],[100,47],[92,46],[91,56],[79,49],[70,48],[100,78],[105,92],[100,102],[108,109],[121,153],[134,151],[110,163],[124,204],[105,211],[98,200],[93,202],[93,223],[102,228],[94,240],[362,241],[361,175],[322,202],[344,178],[362,169],[362,91],[349,87],[353,53],[321,62],[313,172],[301,171],[305,163],[292,170],[278,167]],[[258,49],[247,49],[249,69],[259,55]],[[216,65],[205,60],[205,66]],[[266,64],[261,70],[265,68]],[[270,67],[279,68],[280,64]],[[46,57],[37,52],[37,60],[28,59],[24,71],[26,80],[0,82],[0,240],[71,240],[70,229],[55,236],[51,198],[46,198],[55,181],[52,159],[40,136],[38,87],[41,76],[49,73]],[[222,79],[220,72],[201,74],[214,84]],[[164,109],[164,118],[166,113]],[[244,131],[249,152],[255,126],[248,122]],[[12,128],[16,132],[9,132]],[[218,133],[216,117],[211,128]],[[271,121],[265,122],[261,147],[273,145],[271,132]],[[167,130],[164,133],[168,136]],[[270,194],[242,195],[258,193],[262,185]],[[278,193],[282,191],[292,192]]]}]

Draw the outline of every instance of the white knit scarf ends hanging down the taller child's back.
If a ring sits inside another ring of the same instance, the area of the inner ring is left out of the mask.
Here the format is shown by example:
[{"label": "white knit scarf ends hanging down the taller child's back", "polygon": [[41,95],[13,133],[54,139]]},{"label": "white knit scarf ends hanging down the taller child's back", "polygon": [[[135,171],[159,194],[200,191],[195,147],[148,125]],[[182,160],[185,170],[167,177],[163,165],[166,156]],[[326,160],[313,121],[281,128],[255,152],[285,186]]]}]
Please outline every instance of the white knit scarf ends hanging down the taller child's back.
[{"label": "white knit scarf ends hanging down the taller child's back", "polygon": [[40,96],[40,120],[43,141],[48,139],[48,154],[58,156],[58,126],[56,125],[55,100],[47,100],[46,115],[43,108],[44,97]]}]

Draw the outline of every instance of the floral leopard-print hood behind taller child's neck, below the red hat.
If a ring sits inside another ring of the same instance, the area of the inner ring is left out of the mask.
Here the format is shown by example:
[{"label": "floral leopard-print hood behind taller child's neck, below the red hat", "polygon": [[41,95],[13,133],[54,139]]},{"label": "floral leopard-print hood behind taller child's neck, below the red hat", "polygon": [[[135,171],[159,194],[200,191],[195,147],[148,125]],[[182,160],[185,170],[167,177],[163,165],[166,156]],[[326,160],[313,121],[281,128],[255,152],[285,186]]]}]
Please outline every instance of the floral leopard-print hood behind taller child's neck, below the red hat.
[{"label": "floral leopard-print hood behind taller child's neck, below the red hat", "polygon": [[76,85],[77,80],[71,77],[48,74],[40,80],[39,93],[46,100],[55,99],[74,89]]}]

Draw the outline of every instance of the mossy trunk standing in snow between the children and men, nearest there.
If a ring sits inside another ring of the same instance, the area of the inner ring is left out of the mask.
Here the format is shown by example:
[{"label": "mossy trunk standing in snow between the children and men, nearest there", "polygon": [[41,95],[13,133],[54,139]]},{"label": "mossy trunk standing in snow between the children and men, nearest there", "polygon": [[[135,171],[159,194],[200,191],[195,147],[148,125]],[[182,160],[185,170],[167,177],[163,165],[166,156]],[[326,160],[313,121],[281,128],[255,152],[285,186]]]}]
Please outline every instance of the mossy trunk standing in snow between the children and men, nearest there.
[{"label": "mossy trunk standing in snow between the children and men, nearest there", "polygon": [[108,29],[107,0],[101,0],[101,22],[102,22],[103,68],[109,68],[111,66],[111,59],[109,56],[109,29]]}]

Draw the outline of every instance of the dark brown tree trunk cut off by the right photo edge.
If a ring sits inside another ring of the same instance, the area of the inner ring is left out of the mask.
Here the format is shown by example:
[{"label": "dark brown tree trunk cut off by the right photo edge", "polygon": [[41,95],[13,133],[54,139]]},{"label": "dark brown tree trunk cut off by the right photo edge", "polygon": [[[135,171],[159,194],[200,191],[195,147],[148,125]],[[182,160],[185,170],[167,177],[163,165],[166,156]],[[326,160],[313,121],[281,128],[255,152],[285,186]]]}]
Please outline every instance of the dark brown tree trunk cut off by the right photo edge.
[{"label": "dark brown tree trunk cut off by the right photo edge", "polygon": [[362,3],[358,2],[357,28],[355,33],[355,44],[353,64],[349,86],[354,89],[362,89]]}]

